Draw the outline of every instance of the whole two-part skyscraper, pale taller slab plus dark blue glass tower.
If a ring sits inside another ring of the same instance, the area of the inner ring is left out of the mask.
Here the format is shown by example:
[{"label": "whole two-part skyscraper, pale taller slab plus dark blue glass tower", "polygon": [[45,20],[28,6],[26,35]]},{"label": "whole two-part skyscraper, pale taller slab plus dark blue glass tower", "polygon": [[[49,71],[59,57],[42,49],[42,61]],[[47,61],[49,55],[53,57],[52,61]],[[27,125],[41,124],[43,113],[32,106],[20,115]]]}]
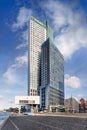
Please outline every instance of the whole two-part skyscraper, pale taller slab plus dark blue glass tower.
[{"label": "whole two-part skyscraper, pale taller slab plus dark blue glass tower", "polygon": [[30,18],[28,95],[40,95],[41,107],[64,104],[64,59],[53,44],[53,31]]}]

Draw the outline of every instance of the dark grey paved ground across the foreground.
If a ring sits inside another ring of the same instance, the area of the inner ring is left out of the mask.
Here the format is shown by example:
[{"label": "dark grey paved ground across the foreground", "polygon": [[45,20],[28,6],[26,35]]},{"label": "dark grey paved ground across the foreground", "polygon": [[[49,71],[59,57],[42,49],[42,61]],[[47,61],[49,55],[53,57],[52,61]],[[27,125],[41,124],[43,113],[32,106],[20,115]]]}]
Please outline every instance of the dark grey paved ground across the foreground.
[{"label": "dark grey paved ground across the foreground", "polygon": [[87,130],[87,118],[16,116],[9,117],[1,130]]}]

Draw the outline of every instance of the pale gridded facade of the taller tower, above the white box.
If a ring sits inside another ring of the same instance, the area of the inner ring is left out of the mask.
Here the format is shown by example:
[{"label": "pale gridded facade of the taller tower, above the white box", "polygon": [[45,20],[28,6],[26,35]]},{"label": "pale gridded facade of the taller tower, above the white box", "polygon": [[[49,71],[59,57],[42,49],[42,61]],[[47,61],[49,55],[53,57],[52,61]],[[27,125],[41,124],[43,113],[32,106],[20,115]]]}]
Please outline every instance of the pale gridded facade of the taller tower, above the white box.
[{"label": "pale gridded facade of the taller tower, above the white box", "polygon": [[41,45],[46,40],[46,25],[30,17],[28,95],[38,95],[40,84]]}]

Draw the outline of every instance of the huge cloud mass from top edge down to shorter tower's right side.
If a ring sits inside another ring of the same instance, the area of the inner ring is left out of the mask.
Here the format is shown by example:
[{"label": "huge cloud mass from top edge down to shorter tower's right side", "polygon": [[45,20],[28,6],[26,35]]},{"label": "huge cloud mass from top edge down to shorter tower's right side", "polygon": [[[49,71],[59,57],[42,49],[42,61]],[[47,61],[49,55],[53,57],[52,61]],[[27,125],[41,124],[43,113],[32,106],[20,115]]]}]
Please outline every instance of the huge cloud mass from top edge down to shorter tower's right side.
[{"label": "huge cloud mass from top edge down to shorter tower's right side", "polygon": [[43,7],[53,23],[54,43],[65,59],[71,58],[81,47],[87,47],[86,17],[81,9],[53,0]]}]

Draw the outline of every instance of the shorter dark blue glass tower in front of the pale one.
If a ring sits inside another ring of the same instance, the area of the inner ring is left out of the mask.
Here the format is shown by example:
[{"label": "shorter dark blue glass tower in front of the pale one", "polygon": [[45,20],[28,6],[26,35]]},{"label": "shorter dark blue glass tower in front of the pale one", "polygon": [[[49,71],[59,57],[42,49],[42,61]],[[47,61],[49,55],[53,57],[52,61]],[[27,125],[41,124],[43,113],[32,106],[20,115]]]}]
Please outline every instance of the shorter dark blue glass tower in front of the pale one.
[{"label": "shorter dark blue glass tower in front of the pale one", "polygon": [[41,108],[64,105],[64,59],[48,38],[41,50]]}]

